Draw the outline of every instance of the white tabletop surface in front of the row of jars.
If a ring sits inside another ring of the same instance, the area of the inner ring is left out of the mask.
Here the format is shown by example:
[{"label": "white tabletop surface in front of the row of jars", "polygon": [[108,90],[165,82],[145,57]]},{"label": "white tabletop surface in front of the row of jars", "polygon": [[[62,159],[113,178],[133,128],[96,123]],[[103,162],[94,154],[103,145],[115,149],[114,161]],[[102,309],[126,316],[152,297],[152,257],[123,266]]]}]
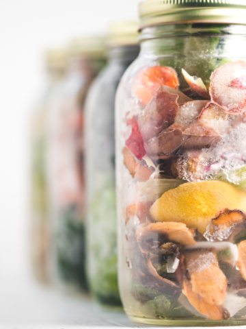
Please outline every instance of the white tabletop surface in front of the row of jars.
[{"label": "white tabletop surface in front of the row of jars", "polygon": [[8,273],[0,284],[1,329],[146,327],[131,322],[123,311],[100,307],[89,297],[65,295],[16,274]]}]

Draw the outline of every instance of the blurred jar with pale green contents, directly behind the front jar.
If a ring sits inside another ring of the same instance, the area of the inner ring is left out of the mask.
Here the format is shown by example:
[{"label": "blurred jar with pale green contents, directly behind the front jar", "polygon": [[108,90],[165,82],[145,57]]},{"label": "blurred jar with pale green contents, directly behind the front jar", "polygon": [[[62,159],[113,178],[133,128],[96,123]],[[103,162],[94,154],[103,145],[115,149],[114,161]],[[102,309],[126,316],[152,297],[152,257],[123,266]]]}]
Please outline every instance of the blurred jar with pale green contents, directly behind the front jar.
[{"label": "blurred jar with pale green contents, directly behind the front jar", "polygon": [[115,206],[114,101],[120,77],[137,57],[137,23],[122,22],[109,30],[109,60],[87,96],[87,276],[103,304],[120,306],[117,280]]}]

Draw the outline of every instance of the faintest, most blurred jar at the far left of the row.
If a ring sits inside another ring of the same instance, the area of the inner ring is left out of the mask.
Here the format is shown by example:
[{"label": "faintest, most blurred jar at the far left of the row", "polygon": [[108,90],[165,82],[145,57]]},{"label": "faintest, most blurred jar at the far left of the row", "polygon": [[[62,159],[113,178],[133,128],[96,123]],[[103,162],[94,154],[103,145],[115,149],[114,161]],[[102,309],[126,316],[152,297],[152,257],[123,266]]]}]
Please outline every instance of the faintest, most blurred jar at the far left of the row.
[{"label": "faintest, most blurred jar at the far left of the row", "polygon": [[64,49],[47,51],[44,93],[31,117],[31,264],[36,278],[49,282],[50,219],[48,212],[46,158],[46,117],[66,73]]}]

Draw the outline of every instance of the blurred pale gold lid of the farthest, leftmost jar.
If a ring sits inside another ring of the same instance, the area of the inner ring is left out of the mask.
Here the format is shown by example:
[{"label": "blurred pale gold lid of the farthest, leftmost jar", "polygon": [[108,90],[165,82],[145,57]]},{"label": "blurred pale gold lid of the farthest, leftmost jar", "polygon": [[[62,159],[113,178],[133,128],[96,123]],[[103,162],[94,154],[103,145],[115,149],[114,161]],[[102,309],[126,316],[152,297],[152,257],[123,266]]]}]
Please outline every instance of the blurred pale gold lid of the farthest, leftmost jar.
[{"label": "blurred pale gold lid of the farthest, leftmost jar", "polygon": [[44,55],[48,71],[66,71],[68,65],[68,51],[65,48],[48,49]]}]

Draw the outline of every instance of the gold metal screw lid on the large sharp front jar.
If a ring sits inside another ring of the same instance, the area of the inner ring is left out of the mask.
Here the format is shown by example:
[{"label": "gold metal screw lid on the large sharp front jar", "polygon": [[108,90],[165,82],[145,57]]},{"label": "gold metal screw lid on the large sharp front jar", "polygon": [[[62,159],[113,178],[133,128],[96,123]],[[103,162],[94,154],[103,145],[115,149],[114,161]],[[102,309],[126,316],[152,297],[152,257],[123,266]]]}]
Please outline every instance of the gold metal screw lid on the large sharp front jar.
[{"label": "gold metal screw lid on the large sharp front jar", "polygon": [[170,23],[246,24],[246,0],[145,0],[140,29]]}]

